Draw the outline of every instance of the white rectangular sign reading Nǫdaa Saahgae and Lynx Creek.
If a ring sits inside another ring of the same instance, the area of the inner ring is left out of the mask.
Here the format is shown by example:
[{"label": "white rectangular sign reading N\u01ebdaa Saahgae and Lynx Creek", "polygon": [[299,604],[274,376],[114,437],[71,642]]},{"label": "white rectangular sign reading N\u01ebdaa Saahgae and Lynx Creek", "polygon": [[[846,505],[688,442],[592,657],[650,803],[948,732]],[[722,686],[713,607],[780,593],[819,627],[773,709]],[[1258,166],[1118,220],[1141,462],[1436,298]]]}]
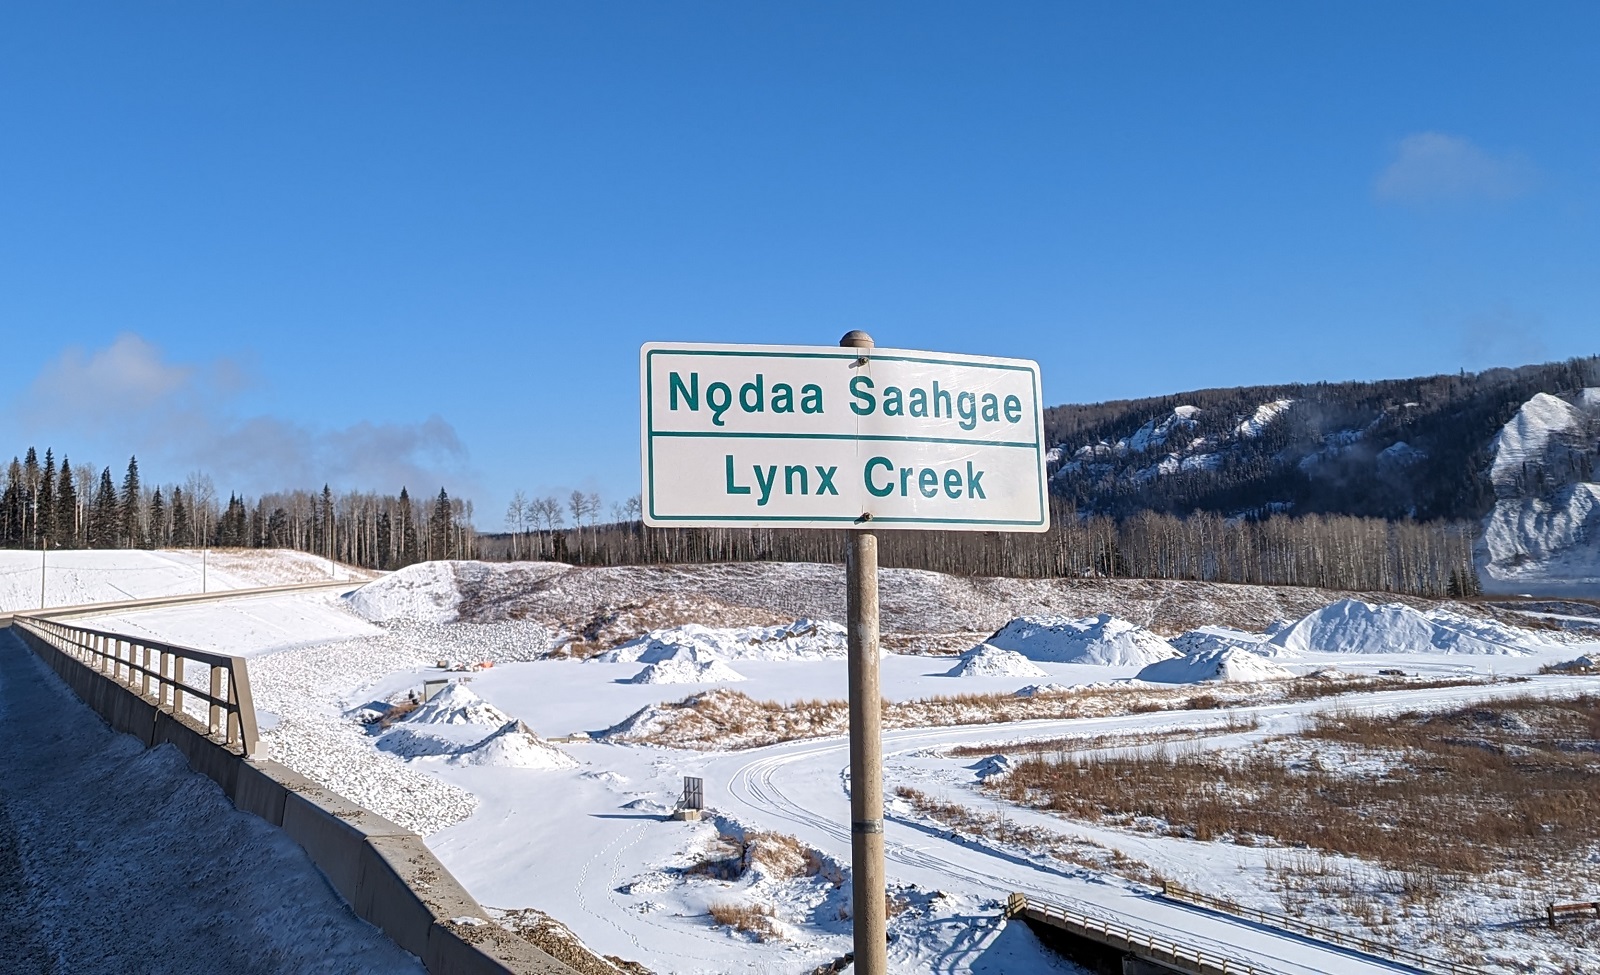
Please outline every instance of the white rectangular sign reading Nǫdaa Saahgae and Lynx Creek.
[{"label": "white rectangular sign reading N\u01ebdaa Saahgae and Lynx Creek", "polygon": [[646,525],[1050,528],[1035,362],[651,343],[640,370]]}]

